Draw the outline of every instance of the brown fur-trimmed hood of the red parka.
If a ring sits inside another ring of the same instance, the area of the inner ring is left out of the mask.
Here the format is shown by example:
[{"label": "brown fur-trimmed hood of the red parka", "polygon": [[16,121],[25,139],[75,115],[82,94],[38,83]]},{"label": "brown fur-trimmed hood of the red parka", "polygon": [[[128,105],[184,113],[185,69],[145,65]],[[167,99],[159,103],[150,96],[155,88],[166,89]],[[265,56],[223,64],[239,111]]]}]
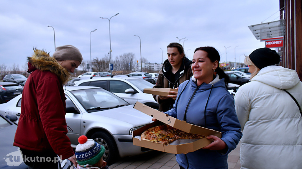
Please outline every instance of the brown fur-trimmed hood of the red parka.
[{"label": "brown fur-trimmed hood of the red parka", "polygon": [[32,57],[27,57],[27,61],[28,73],[33,72],[35,69],[40,71],[50,71],[56,74],[63,84],[65,84],[70,78],[70,73],[63,68],[55,58],[50,57],[49,53],[45,50],[34,48],[34,54]]}]

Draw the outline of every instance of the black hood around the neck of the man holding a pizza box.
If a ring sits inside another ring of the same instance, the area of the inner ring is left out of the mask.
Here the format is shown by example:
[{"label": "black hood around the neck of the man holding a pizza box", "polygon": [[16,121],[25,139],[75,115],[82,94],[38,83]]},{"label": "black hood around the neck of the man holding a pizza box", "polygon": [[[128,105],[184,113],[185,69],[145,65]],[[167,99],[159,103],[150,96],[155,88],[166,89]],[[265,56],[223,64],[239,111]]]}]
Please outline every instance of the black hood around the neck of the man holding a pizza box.
[{"label": "black hood around the neck of the man holding a pizza box", "polygon": [[[177,72],[179,72],[179,76],[182,76],[185,73],[185,70],[188,68],[191,68],[192,61],[189,60],[187,57],[183,57],[182,64],[180,65],[180,68]],[[162,74],[165,77],[168,77],[168,73],[172,71],[172,66],[169,62],[169,60],[165,60],[165,62],[162,64]]]}]

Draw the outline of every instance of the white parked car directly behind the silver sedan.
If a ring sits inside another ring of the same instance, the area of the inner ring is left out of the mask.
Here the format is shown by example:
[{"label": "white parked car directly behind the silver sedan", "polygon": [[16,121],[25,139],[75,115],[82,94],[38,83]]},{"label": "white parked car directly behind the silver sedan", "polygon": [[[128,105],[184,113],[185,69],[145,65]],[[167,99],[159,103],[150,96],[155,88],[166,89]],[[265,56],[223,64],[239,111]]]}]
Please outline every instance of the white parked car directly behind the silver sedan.
[{"label": "white parked car directly behind the silver sedan", "polygon": [[81,80],[75,86],[97,86],[116,94],[130,104],[139,101],[154,109],[159,107],[152,94],[143,93],[144,88],[153,88],[154,84],[139,78],[116,76],[92,78]]}]

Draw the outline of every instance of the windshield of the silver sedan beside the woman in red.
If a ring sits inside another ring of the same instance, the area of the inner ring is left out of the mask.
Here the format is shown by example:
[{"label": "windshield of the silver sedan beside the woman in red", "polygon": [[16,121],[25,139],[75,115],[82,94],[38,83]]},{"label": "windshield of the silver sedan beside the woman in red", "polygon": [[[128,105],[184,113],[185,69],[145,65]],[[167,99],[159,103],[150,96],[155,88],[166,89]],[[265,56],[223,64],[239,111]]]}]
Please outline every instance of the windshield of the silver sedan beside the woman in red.
[{"label": "windshield of the silver sedan beside the woman in red", "polygon": [[130,105],[125,100],[102,88],[70,91],[87,112]]}]

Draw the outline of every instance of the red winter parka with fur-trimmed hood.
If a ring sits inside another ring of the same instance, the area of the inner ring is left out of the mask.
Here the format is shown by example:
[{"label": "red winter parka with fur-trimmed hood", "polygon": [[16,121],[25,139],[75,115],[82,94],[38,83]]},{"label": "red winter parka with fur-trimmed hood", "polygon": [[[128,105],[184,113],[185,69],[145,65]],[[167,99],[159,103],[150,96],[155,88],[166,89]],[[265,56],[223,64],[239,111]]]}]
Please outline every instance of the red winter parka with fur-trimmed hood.
[{"label": "red winter parka with fur-trimmed hood", "polygon": [[28,72],[14,146],[41,152],[53,149],[66,159],[74,155],[66,136],[66,97],[63,83],[69,73],[45,51],[28,57]]}]

